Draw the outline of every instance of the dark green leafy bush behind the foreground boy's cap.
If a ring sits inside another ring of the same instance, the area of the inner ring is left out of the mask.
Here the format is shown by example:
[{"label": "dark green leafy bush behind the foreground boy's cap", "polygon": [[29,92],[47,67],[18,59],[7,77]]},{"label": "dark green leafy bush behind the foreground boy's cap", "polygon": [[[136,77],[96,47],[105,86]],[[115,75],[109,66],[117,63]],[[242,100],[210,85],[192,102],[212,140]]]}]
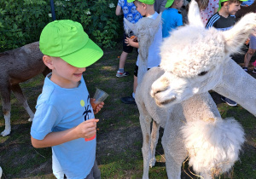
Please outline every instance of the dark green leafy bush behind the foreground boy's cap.
[{"label": "dark green leafy bush behind the foreground boy's cap", "polygon": [[[122,34],[122,17],[115,15],[115,0],[55,0],[56,20],[75,20],[103,49],[116,45]],[[52,21],[49,0],[0,1],[0,51],[39,40]]]}]

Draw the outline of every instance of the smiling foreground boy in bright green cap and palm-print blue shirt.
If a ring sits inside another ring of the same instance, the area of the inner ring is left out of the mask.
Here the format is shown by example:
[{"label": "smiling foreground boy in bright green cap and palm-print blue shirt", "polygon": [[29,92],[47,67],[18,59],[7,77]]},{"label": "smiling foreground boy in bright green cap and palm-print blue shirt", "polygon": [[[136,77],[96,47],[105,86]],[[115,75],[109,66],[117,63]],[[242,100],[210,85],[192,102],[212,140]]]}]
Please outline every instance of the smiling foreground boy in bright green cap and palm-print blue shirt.
[{"label": "smiling foreground boy in bright green cap and palm-print blue shirt", "polygon": [[[92,108],[83,72],[102,55],[96,43],[73,20],[55,20],[39,40],[51,73],[44,80],[32,122],[33,147],[52,147],[56,178],[101,178],[96,165],[96,123],[102,102]],[[90,139],[90,140],[84,140]]]}]

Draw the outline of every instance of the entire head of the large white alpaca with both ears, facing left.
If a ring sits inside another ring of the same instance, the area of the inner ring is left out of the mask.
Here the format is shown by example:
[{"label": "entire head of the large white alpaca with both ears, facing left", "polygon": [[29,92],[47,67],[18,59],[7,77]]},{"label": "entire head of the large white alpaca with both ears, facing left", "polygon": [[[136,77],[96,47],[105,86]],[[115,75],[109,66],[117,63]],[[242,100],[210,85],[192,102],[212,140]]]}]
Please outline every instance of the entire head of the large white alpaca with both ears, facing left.
[{"label": "entire head of the large white alpaca with both ears, facing left", "polygon": [[177,28],[160,48],[165,73],[152,84],[151,96],[169,107],[222,83],[230,55],[241,49],[256,28],[256,14],[247,14],[230,30],[205,29],[197,3],[189,6],[189,25]]}]

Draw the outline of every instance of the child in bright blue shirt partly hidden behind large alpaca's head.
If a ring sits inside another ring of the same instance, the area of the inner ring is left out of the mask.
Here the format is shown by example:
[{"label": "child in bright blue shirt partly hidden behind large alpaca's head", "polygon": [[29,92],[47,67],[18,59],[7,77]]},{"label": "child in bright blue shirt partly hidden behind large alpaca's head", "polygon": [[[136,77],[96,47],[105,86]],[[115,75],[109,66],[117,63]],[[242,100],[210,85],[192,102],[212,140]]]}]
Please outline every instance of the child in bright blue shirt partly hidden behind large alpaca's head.
[{"label": "child in bright blue shirt partly hidden behind large alpaca's head", "polygon": [[178,14],[177,9],[183,6],[183,0],[167,0],[166,10],[162,14],[162,35],[167,38],[177,26],[183,26],[183,16]]}]

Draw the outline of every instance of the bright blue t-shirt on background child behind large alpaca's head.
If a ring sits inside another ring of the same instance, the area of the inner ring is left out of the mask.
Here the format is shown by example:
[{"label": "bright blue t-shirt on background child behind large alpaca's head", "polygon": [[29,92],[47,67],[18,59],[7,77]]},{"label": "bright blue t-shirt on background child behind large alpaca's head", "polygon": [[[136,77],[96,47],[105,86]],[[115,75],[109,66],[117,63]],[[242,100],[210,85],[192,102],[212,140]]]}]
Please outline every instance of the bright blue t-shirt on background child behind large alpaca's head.
[{"label": "bright blue t-shirt on background child behind large alpaca's head", "polygon": [[183,16],[182,14],[178,14],[177,9],[168,8],[164,10],[162,20],[163,38],[167,38],[170,35],[170,32],[172,32],[173,29],[176,29],[177,26],[183,26]]}]

